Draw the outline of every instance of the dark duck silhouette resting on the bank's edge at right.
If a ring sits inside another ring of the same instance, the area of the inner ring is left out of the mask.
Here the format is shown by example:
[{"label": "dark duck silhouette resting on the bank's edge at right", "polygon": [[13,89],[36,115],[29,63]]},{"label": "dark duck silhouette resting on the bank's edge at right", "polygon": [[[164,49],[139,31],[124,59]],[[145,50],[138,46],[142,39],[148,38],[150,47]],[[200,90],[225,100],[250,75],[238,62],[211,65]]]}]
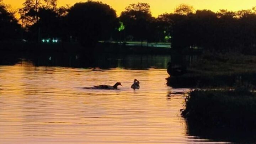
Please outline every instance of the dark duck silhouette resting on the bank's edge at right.
[{"label": "dark duck silhouette resting on the bank's edge at right", "polygon": [[167,65],[167,73],[170,76],[181,76],[186,73],[186,66],[173,65],[171,62],[169,62]]}]

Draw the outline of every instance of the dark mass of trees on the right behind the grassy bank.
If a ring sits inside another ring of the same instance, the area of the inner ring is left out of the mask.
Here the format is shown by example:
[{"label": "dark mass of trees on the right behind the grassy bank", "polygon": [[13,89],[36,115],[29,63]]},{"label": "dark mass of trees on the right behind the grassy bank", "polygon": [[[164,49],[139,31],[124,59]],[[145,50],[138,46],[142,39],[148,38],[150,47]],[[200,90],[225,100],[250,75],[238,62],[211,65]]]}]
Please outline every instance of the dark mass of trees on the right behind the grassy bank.
[{"label": "dark mass of trees on the right behind the grassy bank", "polygon": [[204,47],[215,50],[239,50],[255,53],[256,12],[219,10],[197,10],[188,15],[170,14],[172,45],[182,49]]}]

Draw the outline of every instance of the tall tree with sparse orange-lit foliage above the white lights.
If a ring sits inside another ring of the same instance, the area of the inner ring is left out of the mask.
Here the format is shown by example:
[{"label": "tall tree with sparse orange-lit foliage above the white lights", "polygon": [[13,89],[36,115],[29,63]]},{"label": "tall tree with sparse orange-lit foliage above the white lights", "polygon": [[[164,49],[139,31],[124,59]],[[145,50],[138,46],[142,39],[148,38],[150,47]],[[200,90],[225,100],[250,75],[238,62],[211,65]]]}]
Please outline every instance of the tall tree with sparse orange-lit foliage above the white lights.
[{"label": "tall tree with sparse orange-lit foliage above the white lights", "polygon": [[27,39],[39,42],[46,37],[65,37],[63,19],[68,7],[57,8],[57,0],[26,0],[19,12]]}]

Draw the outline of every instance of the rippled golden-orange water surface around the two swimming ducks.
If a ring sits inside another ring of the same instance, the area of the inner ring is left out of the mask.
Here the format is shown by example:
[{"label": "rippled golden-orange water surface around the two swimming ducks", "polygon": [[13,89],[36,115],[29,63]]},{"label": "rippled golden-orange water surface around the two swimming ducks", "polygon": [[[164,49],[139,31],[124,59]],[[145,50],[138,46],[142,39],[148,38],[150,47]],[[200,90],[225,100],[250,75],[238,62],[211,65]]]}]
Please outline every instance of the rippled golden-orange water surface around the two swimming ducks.
[{"label": "rippled golden-orange water surface around the two swimming ducks", "polygon": [[[164,65],[163,60],[158,65]],[[152,68],[35,66],[27,60],[2,65],[0,143],[217,143],[188,133],[180,116],[188,89],[167,87],[167,76],[165,69]],[[134,78],[141,89],[130,89]],[[82,89],[115,82],[123,87]]]}]

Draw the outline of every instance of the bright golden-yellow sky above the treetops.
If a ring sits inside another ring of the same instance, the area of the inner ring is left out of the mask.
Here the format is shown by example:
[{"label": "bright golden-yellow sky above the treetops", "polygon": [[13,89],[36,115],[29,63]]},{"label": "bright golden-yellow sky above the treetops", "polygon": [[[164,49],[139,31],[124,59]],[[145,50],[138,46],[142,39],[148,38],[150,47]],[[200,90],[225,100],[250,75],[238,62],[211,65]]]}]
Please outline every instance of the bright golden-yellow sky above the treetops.
[{"label": "bright golden-yellow sky above the treetops", "polygon": [[[22,6],[25,0],[3,0],[5,4],[10,4],[12,8],[17,9]],[[73,5],[76,2],[85,2],[87,0],[59,0],[58,6],[65,4]],[[151,6],[153,16],[158,16],[165,12],[173,12],[175,7],[181,3],[192,5],[195,9],[209,9],[217,12],[219,9],[241,10],[251,9],[256,6],[256,0],[98,0],[109,4],[117,11],[119,15],[126,6],[132,3],[147,2]]]}]

